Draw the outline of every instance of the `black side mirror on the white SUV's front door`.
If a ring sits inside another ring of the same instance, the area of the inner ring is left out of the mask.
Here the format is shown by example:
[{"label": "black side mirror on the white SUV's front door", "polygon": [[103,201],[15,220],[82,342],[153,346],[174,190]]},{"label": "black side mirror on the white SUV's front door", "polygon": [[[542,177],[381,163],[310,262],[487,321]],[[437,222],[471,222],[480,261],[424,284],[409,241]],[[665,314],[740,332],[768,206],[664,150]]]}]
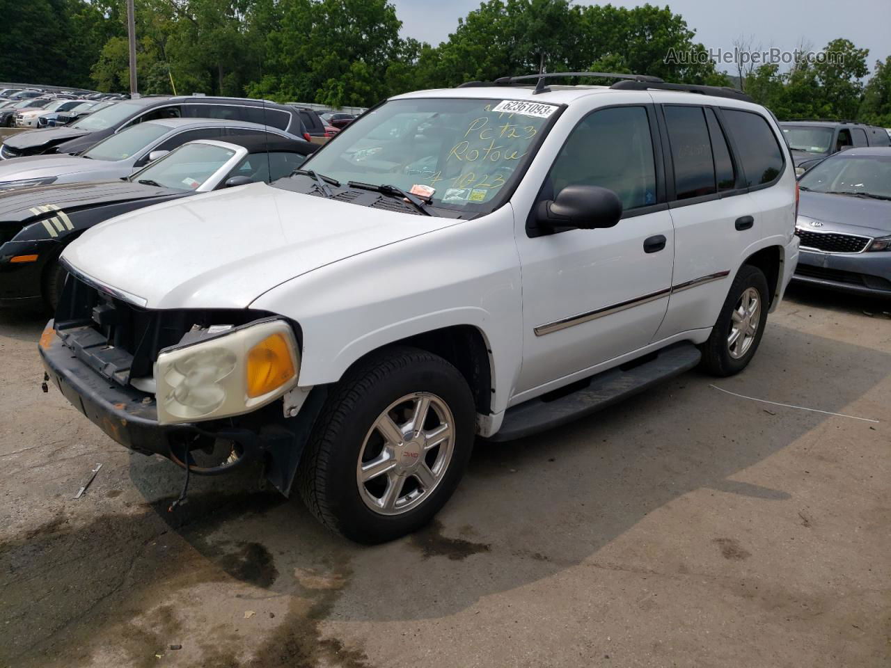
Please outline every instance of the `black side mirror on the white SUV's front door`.
[{"label": "black side mirror on the white SUV's front door", "polygon": [[568,185],[555,200],[539,202],[535,211],[535,223],[544,232],[612,227],[621,217],[617,194],[597,185]]}]

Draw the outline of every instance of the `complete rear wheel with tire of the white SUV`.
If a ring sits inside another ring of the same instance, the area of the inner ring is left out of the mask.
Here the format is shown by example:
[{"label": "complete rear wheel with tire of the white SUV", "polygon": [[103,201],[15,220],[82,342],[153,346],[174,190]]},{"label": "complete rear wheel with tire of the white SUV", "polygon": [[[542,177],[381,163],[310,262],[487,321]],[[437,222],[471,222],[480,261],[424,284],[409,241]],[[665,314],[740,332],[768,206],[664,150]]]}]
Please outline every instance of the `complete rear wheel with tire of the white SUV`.
[{"label": "complete rear wheel with tire of the white SUV", "polygon": [[761,343],[770,297],[756,266],[742,265],[733,279],[715,327],[700,346],[700,366],[715,376],[732,376],[748,366]]}]

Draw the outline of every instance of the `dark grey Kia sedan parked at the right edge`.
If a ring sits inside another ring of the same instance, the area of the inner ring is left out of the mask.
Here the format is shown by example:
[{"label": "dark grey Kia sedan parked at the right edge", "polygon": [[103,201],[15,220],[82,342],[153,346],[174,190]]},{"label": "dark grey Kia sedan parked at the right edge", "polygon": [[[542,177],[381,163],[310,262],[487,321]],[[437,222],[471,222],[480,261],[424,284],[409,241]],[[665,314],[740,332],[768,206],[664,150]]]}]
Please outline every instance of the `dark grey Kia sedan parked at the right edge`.
[{"label": "dark grey Kia sedan parked at the right edge", "polygon": [[891,298],[891,148],[837,153],[798,186],[794,279]]}]

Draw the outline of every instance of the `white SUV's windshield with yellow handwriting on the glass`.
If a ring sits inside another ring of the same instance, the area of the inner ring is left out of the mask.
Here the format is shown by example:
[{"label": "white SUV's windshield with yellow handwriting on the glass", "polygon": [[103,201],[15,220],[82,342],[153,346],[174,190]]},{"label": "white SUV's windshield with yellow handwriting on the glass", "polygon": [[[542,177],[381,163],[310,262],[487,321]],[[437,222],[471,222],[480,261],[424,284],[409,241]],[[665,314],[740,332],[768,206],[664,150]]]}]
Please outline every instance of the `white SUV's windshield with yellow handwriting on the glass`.
[{"label": "white SUV's windshield with yellow handwriting on the glass", "polygon": [[519,178],[558,109],[486,99],[393,100],[347,126],[304,168],[344,185],[428,186],[433,207],[485,213]]}]

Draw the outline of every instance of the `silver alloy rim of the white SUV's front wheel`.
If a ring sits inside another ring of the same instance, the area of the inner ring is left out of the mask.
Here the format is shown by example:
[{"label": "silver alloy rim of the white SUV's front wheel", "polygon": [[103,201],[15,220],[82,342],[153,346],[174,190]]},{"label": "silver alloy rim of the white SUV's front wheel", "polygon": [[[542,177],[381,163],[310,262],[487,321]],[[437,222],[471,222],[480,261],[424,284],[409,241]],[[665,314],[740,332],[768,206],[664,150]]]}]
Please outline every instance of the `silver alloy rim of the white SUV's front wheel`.
[{"label": "silver alloy rim of the white SUV's front wheel", "polygon": [[454,451],[454,417],[429,392],[405,395],[381,412],[365,435],[356,483],[365,505],[400,515],[429,498]]}]

